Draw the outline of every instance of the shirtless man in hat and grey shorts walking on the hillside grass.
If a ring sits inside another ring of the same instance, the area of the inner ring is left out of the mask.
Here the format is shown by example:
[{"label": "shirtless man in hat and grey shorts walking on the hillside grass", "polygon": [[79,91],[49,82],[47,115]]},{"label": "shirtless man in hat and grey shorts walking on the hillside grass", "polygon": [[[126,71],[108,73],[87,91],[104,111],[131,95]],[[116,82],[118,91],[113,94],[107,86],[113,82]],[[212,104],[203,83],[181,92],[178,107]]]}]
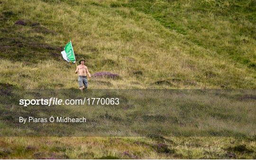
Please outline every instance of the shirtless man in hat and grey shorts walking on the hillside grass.
[{"label": "shirtless man in hat and grey shorts walking on the hillside grass", "polygon": [[79,60],[79,64],[76,67],[75,73],[78,72],[78,84],[79,84],[79,89],[87,89],[88,87],[88,80],[87,80],[87,75],[89,78],[91,78],[91,74],[88,71],[88,68],[84,65],[85,60],[81,58]]}]

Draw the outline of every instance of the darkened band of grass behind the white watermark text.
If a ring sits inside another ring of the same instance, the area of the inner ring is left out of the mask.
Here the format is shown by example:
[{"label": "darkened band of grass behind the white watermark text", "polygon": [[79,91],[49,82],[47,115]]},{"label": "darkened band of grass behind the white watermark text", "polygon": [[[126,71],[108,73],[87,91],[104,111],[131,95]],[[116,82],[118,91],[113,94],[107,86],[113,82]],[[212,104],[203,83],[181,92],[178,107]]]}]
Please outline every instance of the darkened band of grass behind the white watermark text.
[{"label": "darkened band of grass behind the white watermark text", "polygon": [[[2,136],[233,136],[252,137],[256,130],[254,91],[115,90],[81,93],[70,90],[1,90]],[[18,105],[19,99],[119,98],[76,105]],[[15,103],[17,102],[17,103]],[[115,103],[117,100],[114,101]],[[46,118],[47,123],[18,122],[18,117]],[[49,118],[55,117],[50,123]],[[57,123],[57,117],[85,117],[86,123]],[[63,130],[63,128],[65,128]]]}]

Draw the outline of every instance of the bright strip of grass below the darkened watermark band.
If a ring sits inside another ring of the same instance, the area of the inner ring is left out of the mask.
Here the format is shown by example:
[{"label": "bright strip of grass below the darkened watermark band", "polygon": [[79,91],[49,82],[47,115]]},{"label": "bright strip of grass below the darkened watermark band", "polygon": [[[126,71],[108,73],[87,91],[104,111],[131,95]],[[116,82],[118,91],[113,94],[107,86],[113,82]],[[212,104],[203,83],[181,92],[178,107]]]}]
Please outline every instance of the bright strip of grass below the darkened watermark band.
[{"label": "bright strip of grass below the darkened watermark band", "polygon": [[0,158],[255,159],[254,143],[231,137],[0,137]]}]

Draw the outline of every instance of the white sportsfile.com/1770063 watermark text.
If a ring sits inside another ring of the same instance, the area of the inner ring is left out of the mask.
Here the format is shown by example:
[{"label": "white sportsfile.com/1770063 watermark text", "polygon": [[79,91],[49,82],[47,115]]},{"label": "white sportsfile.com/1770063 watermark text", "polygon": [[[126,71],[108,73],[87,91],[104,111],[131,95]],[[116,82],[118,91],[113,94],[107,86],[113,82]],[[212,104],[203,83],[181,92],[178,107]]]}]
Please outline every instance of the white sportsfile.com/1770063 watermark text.
[{"label": "white sportsfile.com/1770063 watermark text", "polygon": [[83,99],[19,99],[19,105],[27,107],[29,105],[119,105],[119,98],[83,98]]}]

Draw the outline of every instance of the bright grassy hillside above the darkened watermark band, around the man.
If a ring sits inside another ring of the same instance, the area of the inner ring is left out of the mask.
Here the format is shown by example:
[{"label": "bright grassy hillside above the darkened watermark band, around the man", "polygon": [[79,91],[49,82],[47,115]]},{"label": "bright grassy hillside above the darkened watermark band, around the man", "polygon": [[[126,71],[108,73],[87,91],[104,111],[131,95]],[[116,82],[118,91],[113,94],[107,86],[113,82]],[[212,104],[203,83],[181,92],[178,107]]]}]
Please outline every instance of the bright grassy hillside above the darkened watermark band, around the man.
[{"label": "bright grassy hillside above the darkened watermark band, around the man", "polygon": [[1,83],[76,88],[72,40],[91,73],[122,77],[91,88],[256,88],[254,0],[2,0],[0,19]]}]

